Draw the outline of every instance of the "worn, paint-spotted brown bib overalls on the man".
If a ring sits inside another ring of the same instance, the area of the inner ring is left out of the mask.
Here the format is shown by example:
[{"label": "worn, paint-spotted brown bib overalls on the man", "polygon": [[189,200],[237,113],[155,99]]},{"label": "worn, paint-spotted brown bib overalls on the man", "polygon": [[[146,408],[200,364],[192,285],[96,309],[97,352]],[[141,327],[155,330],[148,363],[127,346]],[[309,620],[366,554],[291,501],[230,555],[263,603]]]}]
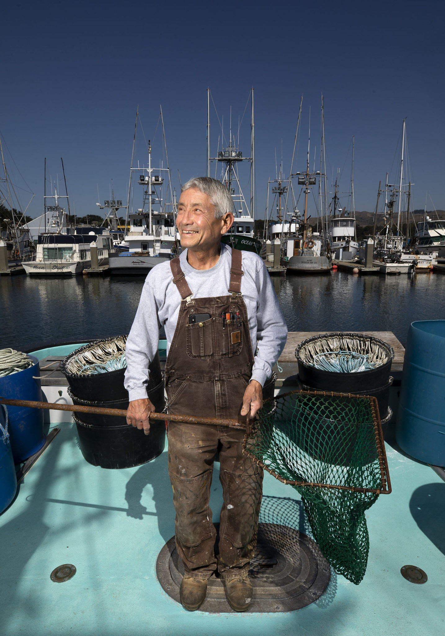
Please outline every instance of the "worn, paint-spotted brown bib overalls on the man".
[{"label": "worn, paint-spotted brown bib overalls on the man", "polygon": [[[241,251],[232,249],[229,296],[194,300],[180,259],[170,263],[182,301],[165,367],[169,413],[241,418],[242,397],[253,367],[248,315],[241,297],[241,259]],[[222,314],[236,312],[239,320],[223,328]],[[190,324],[193,314],[211,317]],[[173,422],[168,426],[176,549],[189,576],[208,578],[217,566],[225,579],[248,572],[256,547],[263,473],[242,455],[243,438],[244,431],[222,426]],[[216,558],[209,494],[217,450],[223,506]]]}]

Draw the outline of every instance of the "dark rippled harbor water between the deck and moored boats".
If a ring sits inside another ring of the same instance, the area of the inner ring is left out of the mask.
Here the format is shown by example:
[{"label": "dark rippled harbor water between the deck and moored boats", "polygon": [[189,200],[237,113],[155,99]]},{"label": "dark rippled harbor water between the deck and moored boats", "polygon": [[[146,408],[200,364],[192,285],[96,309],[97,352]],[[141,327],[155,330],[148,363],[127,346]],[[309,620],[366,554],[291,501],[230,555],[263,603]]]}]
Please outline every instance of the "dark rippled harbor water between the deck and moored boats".
[{"label": "dark rippled harbor water between the deck and moored boats", "polygon": [[[0,349],[85,342],[128,333],[143,277],[0,277]],[[289,331],[393,331],[445,317],[437,273],[360,276],[346,272],[272,278]]]}]

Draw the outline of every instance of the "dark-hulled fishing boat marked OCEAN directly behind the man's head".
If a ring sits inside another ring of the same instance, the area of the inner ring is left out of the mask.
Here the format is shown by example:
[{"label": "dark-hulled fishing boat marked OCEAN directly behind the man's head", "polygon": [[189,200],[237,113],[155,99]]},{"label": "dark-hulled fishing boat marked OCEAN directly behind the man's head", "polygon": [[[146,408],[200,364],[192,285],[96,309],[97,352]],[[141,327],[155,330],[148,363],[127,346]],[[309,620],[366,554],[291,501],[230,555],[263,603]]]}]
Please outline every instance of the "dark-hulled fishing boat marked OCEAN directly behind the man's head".
[{"label": "dark-hulled fishing boat marked OCEAN directly behind the man's head", "polygon": [[[255,135],[253,123],[253,88],[251,89],[251,147],[250,156],[243,156],[239,149],[238,135],[232,137],[232,117],[230,115],[229,143],[224,145],[224,131],[222,129],[222,144],[218,139],[218,151],[216,156],[211,157],[210,152],[210,89],[207,89],[207,172],[210,176],[210,164],[216,162],[215,179],[218,178],[224,183],[232,196],[234,223],[229,232],[223,235],[221,242],[230,245],[234,249],[241,249],[246,252],[260,254],[262,242],[255,239]],[[246,201],[242,193],[241,181],[239,177],[239,165],[242,162],[250,163],[250,200]],[[221,168],[217,177],[218,166]]]}]

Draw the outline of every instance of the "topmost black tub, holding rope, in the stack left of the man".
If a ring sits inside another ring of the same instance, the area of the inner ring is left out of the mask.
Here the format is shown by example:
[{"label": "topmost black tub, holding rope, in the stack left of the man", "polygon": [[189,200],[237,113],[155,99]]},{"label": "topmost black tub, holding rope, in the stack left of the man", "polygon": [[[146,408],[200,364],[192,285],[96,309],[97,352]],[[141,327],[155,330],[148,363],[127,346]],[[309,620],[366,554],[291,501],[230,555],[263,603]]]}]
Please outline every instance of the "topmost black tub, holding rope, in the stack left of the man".
[{"label": "topmost black tub, holding rope, in the stack left of the man", "polygon": [[[122,341],[125,343],[127,336],[114,336],[112,338],[104,338],[103,340],[96,340],[88,345],[79,347],[76,351],[73,351],[69,356],[60,363],[60,370],[68,380],[69,387],[72,393],[79,399],[87,401],[119,401],[123,399],[128,400],[128,391],[124,387],[124,374],[126,367],[123,369],[117,369],[116,371],[108,371],[107,373],[91,373],[91,374],[76,374],[69,370],[70,362],[73,359],[88,353],[90,350],[95,349],[100,343]],[[163,379],[161,371],[161,363],[159,362],[159,353],[156,352],[152,363],[149,366],[150,378],[147,385],[147,391],[156,387]]]}]

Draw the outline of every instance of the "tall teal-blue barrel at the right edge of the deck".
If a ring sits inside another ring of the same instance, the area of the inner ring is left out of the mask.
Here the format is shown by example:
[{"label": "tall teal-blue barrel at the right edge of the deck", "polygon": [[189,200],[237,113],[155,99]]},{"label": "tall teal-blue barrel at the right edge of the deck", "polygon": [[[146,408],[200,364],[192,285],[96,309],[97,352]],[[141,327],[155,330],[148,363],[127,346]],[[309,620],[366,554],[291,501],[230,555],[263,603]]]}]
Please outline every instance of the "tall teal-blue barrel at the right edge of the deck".
[{"label": "tall teal-blue barrel at the right edge of the deck", "polygon": [[445,320],[411,323],[396,439],[411,457],[445,466]]}]

